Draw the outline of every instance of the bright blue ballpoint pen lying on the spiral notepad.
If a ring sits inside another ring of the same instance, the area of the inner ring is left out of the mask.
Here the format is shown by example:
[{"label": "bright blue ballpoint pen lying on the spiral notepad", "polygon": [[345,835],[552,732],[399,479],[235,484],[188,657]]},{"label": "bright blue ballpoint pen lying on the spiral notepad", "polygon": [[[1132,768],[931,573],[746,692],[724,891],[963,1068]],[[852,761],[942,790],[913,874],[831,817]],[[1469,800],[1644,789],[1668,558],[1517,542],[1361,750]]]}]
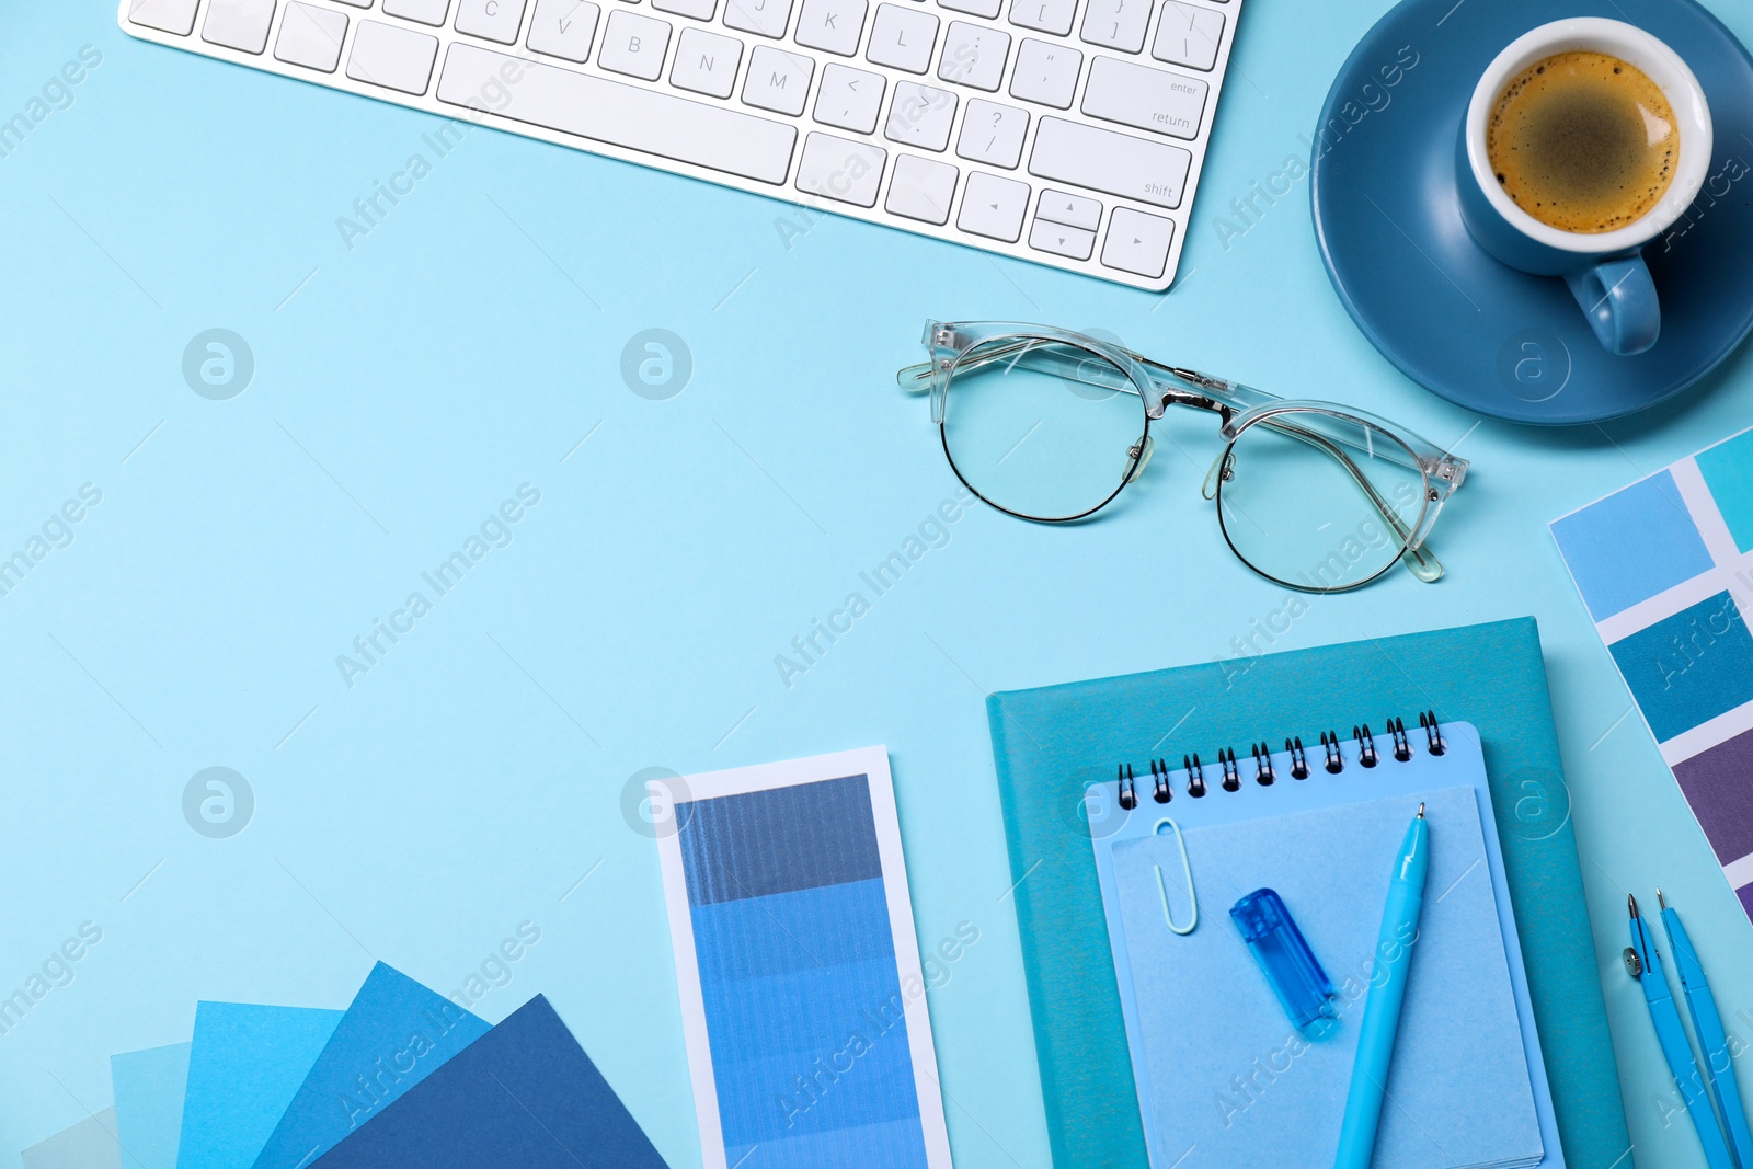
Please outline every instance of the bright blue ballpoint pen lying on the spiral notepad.
[{"label": "bright blue ballpoint pen lying on the spiral notepad", "polygon": [[[1381,936],[1376,941],[1376,969],[1387,976],[1371,985],[1364,1003],[1364,1024],[1357,1036],[1357,1062],[1352,1064],[1352,1088],[1345,1097],[1345,1123],[1339,1125],[1339,1153],[1334,1169],[1369,1169],[1376,1153],[1376,1125],[1381,1122],[1381,1097],[1388,1087],[1394,1059],[1394,1034],[1401,1025],[1406,999],[1406,974],[1418,941],[1418,913],[1423,910],[1425,875],[1430,871],[1430,825],[1423,804],[1406,827],[1388,904],[1381,911]],[[1374,978],[1374,974],[1373,974]]]}]

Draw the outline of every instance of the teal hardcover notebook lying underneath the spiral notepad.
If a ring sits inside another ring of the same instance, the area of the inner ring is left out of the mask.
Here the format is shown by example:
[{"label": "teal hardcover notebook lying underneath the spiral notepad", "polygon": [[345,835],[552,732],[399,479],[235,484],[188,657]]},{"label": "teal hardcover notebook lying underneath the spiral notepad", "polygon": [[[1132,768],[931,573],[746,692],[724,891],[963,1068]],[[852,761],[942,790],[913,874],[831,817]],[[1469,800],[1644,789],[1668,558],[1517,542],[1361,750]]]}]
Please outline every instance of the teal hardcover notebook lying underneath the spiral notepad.
[{"label": "teal hardcover notebook lying underneath the spiral notepad", "polygon": [[[1571,1169],[1630,1139],[1532,619],[994,694],[987,701],[1057,1169],[1145,1169],[1083,790],[1132,762],[1434,710],[1478,727],[1504,878]],[[1416,733],[1416,731],[1415,731]],[[1318,747],[1311,754],[1318,754]],[[1210,759],[1210,754],[1206,755]],[[1243,755],[1245,769],[1250,764]]]}]

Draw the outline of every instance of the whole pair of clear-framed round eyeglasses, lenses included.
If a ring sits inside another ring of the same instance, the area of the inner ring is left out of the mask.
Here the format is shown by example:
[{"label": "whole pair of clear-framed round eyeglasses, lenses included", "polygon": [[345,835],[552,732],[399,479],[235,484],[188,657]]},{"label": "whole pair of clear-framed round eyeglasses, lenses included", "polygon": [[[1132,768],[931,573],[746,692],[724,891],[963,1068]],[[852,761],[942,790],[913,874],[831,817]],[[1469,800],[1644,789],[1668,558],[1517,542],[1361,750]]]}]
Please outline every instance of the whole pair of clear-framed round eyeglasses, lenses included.
[{"label": "whole pair of clear-framed round eyeglasses, lenses included", "polygon": [[1432,582],[1425,545],[1467,461],[1385,419],[1287,401],[1040,324],[926,322],[931,359],[896,377],[931,393],[943,454],[1001,512],[1078,521],[1143,475],[1167,407],[1218,415],[1201,494],[1243,564],[1290,589],[1345,592],[1395,561]]}]

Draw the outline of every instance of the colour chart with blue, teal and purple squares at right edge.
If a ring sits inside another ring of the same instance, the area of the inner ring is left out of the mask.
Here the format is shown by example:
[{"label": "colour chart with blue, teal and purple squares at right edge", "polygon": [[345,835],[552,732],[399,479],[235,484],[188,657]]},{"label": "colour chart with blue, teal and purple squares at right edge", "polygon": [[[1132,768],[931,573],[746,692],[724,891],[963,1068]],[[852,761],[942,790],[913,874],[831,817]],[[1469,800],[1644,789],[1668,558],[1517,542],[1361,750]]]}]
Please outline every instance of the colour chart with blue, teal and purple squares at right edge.
[{"label": "colour chart with blue, teal and purple squares at right edge", "polygon": [[1753,431],[1590,503],[1551,531],[1753,917]]}]

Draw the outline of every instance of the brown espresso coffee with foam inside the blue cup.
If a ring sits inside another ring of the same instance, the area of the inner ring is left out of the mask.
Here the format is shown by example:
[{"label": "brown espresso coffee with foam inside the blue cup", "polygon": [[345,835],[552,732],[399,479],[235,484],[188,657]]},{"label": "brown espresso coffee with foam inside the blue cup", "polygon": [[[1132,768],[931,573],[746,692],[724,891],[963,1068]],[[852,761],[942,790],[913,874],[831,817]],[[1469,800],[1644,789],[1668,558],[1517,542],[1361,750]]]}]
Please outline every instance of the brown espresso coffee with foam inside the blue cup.
[{"label": "brown espresso coffee with foam inside the blue cup", "polygon": [[1623,228],[1653,209],[1679,161],[1679,126],[1648,74],[1606,53],[1558,53],[1522,70],[1485,130],[1492,174],[1560,231]]}]

